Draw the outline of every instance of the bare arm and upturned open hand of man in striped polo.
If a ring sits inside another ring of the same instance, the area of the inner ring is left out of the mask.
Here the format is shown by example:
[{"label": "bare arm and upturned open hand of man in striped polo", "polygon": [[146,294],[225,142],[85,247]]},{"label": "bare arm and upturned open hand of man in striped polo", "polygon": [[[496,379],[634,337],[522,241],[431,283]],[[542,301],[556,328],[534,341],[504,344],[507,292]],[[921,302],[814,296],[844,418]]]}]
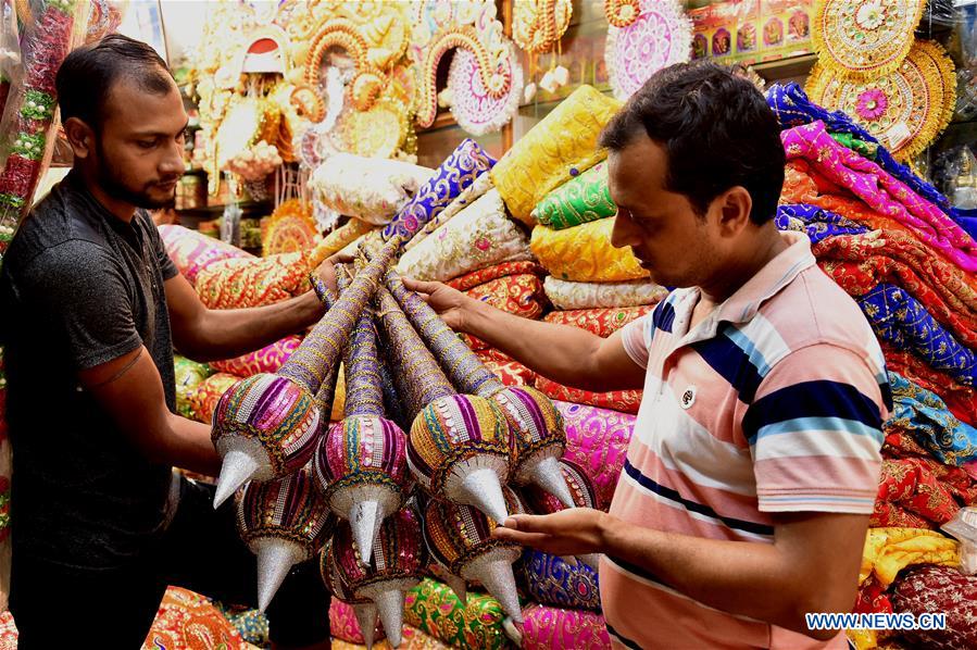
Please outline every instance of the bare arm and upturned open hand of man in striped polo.
[{"label": "bare arm and upturned open hand of man in striped polo", "polygon": [[829,639],[837,630],[810,630],[804,614],[852,610],[867,528],[867,515],[778,515],[766,545],[663,533],[577,508],[510,517],[494,535],[558,555],[605,553],[706,605]]}]

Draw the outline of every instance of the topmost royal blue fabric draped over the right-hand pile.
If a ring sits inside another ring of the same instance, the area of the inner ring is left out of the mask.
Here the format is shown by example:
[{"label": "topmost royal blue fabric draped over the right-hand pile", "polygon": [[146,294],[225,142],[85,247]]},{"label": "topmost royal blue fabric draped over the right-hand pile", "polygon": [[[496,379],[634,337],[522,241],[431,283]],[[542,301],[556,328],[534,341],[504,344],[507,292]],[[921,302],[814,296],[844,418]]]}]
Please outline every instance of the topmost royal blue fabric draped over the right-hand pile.
[{"label": "topmost royal blue fabric draped over the right-hand pile", "polygon": [[[811,101],[801,87],[793,82],[787,85],[774,84],[771,86],[766,91],[766,101],[771,109],[773,109],[774,114],[777,115],[777,118],[780,121],[781,128],[793,128],[794,126],[801,126],[802,124],[809,124],[816,120],[821,120],[830,132],[851,134],[859,139],[877,143],[879,147],[875,162],[878,163],[879,166],[899,180],[909,185],[913,191],[930,203],[936,204],[940,210],[950,215],[950,218],[960,224],[961,227],[967,229],[964,224],[961,223],[961,215],[957,211],[950,207],[950,201],[947,197],[941,195],[936,187],[923,178],[919,178],[919,176],[914,174],[907,166],[892,158],[892,154],[889,153],[888,149],[843,112],[828,111],[827,109],[817,105]],[[974,227],[974,225],[972,224],[970,227]],[[972,236],[977,236],[969,229],[967,229],[967,232]]]}]

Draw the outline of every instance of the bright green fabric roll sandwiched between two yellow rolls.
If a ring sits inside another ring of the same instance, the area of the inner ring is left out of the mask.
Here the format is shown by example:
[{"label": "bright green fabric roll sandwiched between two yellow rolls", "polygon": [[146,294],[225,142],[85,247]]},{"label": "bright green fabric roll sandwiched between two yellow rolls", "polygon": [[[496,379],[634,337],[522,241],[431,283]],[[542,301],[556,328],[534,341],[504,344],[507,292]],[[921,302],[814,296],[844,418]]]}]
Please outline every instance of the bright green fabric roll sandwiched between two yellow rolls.
[{"label": "bright green fabric roll sandwiched between two yellow rolls", "polygon": [[601,162],[564,183],[533,211],[536,221],[554,230],[617,214],[608,187],[608,163]]}]

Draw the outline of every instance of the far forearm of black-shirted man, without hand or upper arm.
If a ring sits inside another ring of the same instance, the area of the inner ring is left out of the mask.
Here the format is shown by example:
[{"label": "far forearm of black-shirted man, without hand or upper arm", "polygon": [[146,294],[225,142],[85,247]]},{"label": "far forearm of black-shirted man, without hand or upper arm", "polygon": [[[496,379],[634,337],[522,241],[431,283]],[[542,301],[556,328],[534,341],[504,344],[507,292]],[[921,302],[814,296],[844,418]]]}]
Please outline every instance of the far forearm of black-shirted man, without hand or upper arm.
[{"label": "far forearm of black-shirted man, without hand or upper arm", "polygon": [[314,291],[266,307],[208,310],[193,349],[180,352],[197,361],[231,359],[297,334],[324,314]]}]

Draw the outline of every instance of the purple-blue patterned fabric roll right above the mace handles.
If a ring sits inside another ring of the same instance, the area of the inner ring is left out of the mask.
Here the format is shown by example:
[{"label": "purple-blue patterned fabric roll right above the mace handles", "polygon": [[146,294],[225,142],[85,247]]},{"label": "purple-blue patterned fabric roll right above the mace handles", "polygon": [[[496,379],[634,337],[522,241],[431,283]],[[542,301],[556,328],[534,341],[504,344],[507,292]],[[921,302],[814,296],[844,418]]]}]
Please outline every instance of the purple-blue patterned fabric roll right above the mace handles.
[{"label": "purple-blue patterned fabric roll right above the mace handles", "polygon": [[393,220],[384,227],[384,240],[394,235],[406,243],[430,220],[439,215],[475,179],[488,172],[496,159],[478,142],[467,138],[451,152],[414,197],[401,208]]}]

